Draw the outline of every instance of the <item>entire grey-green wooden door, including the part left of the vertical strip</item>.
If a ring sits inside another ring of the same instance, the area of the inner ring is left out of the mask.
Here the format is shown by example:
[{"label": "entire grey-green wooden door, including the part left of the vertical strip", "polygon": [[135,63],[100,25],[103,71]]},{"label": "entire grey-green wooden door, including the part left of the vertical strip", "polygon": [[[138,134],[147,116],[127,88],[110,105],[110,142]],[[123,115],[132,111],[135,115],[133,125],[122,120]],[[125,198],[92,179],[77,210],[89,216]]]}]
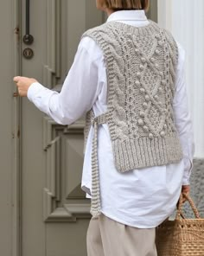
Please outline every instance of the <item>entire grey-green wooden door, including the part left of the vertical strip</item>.
[{"label": "entire grey-green wooden door, including the part left of the vertical strip", "polygon": [[84,121],[57,125],[17,97],[12,77],[34,77],[60,91],[80,35],[105,16],[95,0],[30,0],[34,42],[27,45],[26,0],[2,1],[0,7],[1,253],[85,256],[91,215],[80,189]]}]

